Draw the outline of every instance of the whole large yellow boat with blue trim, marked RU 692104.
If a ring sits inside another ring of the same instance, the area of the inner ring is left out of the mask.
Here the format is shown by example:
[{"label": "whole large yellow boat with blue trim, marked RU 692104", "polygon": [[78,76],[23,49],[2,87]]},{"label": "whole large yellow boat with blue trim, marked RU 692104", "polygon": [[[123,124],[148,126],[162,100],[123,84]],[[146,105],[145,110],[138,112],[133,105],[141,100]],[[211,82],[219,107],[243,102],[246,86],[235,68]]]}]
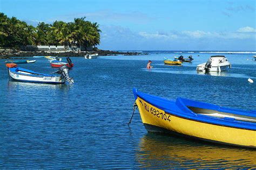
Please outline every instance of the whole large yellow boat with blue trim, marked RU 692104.
[{"label": "whole large yellow boat with blue trim, marked RU 692104", "polygon": [[135,88],[133,94],[149,132],[256,148],[256,111],[225,108],[180,97],[170,101]]}]

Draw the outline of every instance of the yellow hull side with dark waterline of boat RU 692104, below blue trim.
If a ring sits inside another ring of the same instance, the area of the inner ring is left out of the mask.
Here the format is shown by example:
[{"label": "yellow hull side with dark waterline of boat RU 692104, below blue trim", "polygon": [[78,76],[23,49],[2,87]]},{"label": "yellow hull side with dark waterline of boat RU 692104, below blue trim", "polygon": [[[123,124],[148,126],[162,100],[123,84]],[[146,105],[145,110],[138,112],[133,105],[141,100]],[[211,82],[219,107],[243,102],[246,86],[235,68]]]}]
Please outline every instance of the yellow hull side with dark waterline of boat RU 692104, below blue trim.
[{"label": "yellow hull side with dark waterline of boat RU 692104, below blue trim", "polygon": [[231,145],[256,147],[256,131],[193,121],[167,113],[142,98],[136,100],[147,131],[171,132],[187,137]]}]

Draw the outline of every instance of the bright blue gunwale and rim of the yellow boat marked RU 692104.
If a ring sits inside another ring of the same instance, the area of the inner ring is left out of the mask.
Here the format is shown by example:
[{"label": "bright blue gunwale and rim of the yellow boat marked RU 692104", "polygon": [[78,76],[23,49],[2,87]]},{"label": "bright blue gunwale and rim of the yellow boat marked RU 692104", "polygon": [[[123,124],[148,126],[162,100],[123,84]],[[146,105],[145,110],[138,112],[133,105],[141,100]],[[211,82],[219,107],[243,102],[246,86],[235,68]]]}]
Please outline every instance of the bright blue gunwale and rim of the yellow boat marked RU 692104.
[{"label": "bright blue gunwale and rim of the yellow boat marked RU 692104", "polygon": [[[200,106],[199,108],[217,110],[221,112],[227,112],[230,114],[256,117],[256,113],[253,111],[219,107],[218,105],[204,103],[204,102],[197,102],[193,100],[187,100],[185,98],[177,98],[177,101],[174,102],[174,101],[167,100],[166,98],[141,93],[137,91],[137,89],[133,89],[133,93],[136,99],[137,97],[140,97],[146,102],[150,103],[151,105],[154,105],[154,107],[164,110],[166,113],[171,113],[173,116],[189,119],[191,121],[198,121],[198,122],[203,122],[208,124],[227,126],[230,128],[256,130],[255,123],[253,122],[239,121],[233,118],[218,118],[218,117],[211,117],[206,115],[199,115],[193,112],[192,110],[190,110],[189,108],[187,108],[186,105],[190,107]],[[189,104],[185,104],[185,103],[189,103]]]}]

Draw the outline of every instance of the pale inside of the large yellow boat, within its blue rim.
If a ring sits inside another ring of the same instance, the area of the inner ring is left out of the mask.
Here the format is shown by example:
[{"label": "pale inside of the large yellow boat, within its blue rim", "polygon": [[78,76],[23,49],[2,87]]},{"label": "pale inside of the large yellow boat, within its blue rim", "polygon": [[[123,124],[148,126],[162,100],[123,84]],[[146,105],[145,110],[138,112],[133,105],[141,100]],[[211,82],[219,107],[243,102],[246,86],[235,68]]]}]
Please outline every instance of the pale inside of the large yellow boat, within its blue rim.
[{"label": "pale inside of the large yellow boat, within its blue rim", "polygon": [[212,117],[218,117],[218,118],[233,118],[237,121],[245,121],[245,122],[256,122],[256,117],[236,115],[236,114],[230,114],[227,112],[220,112],[218,110],[210,110],[210,109],[203,109],[203,108],[190,107],[190,106],[188,106],[187,108],[199,115],[212,116]]}]

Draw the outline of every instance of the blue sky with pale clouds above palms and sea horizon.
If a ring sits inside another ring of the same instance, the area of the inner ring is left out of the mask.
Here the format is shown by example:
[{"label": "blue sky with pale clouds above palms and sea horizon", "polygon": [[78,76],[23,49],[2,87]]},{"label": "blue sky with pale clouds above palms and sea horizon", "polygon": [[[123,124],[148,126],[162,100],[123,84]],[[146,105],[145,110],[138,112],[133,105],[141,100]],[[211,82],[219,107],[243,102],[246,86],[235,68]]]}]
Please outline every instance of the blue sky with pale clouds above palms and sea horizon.
[{"label": "blue sky with pale clouds above palms and sea horizon", "polygon": [[256,51],[256,0],[0,0],[36,26],[74,18],[100,25],[100,49]]}]

